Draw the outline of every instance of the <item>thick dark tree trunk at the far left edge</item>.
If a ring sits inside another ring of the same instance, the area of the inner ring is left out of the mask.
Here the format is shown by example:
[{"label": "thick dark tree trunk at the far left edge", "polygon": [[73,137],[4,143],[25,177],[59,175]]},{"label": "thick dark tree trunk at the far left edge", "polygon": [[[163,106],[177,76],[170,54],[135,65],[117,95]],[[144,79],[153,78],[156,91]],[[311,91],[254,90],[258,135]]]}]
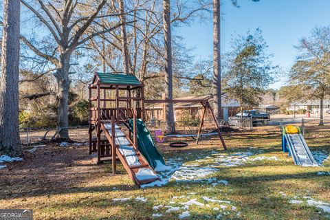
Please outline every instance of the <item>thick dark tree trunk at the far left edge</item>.
[{"label": "thick dark tree trunk at the far left edge", "polygon": [[0,81],[0,155],[19,157],[19,0],[5,0]]}]

